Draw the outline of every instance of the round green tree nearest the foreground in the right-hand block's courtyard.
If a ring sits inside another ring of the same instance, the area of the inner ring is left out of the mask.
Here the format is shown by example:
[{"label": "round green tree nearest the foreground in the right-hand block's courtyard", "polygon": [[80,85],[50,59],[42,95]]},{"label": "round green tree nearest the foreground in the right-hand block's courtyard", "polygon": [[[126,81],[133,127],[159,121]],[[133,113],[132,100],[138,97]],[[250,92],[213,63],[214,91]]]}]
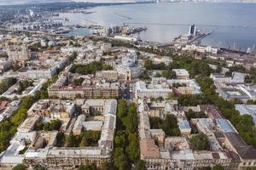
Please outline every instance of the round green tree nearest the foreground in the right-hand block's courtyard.
[{"label": "round green tree nearest the foreground in the right-hand block's courtyard", "polygon": [[191,137],[190,144],[192,150],[210,150],[210,144],[207,135],[198,133]]}]

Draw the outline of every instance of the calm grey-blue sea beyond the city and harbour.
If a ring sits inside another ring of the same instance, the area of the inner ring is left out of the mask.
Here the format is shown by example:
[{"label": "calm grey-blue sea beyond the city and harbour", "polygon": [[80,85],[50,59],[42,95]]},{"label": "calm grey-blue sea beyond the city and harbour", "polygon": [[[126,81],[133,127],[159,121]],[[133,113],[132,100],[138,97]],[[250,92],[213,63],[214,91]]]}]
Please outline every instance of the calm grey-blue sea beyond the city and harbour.
[{"label": "calm grey-blue sea beyond the city and harbour", "polygon": [[[256,3],[140,3],[90,8],[83,13],[61,13],[67,25],[145,26],[144,41],[172,42],[189,26],[212,34],[201,44],[247,50],[256,44]],[[89,34],[80,29],[72,35]]]}]

